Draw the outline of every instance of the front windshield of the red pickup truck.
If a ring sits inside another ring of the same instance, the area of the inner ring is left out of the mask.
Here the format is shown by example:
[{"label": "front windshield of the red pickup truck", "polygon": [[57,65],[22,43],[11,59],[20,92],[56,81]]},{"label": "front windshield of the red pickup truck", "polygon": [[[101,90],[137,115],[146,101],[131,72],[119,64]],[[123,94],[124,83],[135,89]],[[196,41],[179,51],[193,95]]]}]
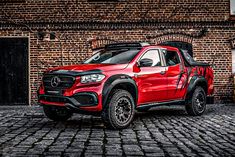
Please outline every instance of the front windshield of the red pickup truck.
[{"label": "front windshield of the red pickup truck", "polygon": [[84,63],[126,64],[139,52],[139,49],[101,50]]}]

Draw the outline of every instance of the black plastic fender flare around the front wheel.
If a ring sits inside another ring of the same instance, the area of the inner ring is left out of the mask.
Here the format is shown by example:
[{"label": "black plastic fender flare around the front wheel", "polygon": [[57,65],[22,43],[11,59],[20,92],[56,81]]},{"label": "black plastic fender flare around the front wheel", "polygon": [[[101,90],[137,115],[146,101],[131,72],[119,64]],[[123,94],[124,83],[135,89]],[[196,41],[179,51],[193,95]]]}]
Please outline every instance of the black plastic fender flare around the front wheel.
[{"label": "black plastic fender flare around the front wheel", "polygon": [[135,98],[134,101],[137,103],[138,100],[138,87],[136,82],[126,74],[117,74],[110,76],[106,82],[104,83],[103,90],[102,90],[102,105],[103,107],[106,105],[109,94],[111,93],[112,89],[119,84],[128,83],[134,87],[135,90]]}]

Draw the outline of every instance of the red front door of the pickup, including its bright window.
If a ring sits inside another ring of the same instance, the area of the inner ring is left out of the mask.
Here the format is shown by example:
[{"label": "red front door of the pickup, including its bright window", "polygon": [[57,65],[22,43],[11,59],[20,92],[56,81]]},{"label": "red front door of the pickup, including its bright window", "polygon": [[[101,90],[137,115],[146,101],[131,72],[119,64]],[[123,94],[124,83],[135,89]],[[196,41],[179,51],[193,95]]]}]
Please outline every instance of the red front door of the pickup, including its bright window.
[{"label": "red front door of the pickup, including its bright window", "polygon": [[[152,60],[152,65],[141,66],[143,59]],[[138,104],[163,102],[167,99],[166,69],[162,65],[158,49],[148,50],[138,61],[135,81],[138,86]]]}]

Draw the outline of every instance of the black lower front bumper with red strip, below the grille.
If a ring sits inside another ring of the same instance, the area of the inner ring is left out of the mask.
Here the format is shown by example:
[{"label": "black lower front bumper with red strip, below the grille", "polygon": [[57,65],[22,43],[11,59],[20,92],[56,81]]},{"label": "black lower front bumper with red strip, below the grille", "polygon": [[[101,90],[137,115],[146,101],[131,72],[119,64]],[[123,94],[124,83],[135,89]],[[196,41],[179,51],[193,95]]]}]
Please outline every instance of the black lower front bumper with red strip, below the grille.
[{"label": "black lower front bumper with red strip, below the grille", "polygon": [[98,105],[98,96],[94,92],[81,92],[73,96],[39,95],[39,103],[45,105],[67,106],[70,108],[94,107]]}]

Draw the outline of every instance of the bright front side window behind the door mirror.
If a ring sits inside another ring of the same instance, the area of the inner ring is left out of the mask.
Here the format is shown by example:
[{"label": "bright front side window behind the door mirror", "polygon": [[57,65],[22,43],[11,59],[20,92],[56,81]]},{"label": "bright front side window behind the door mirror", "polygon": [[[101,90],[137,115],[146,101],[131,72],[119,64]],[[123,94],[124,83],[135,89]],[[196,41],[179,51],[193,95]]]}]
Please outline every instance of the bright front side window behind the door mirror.
[{"label": "bright front side window behind the door mirror", "polygon": [[161,59],[160,59],[160,55],[159,55],[159,51],[158,50],[149,50],[149,51],[147,51],[141,57],[141,59],[152,59],[153,60],[152,67],[153,66],[161,66]]}]

